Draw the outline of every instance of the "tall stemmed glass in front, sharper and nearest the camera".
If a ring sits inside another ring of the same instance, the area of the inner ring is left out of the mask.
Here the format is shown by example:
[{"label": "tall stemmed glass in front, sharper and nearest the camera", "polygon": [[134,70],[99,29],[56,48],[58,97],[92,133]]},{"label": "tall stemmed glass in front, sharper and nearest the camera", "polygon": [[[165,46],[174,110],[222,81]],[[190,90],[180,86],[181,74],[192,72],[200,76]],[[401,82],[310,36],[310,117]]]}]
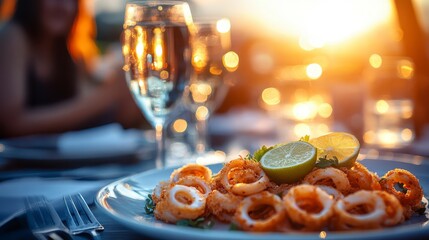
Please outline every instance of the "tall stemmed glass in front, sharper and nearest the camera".
[{"label": "tall stemmed glass in front, sharper and nearest the camera", "polygon": [[156,130],[156,167],[166,164],[163,127],[190,78],[189,6],[179,1],[135,1],[125,7],[122,52],[128,86]]}]

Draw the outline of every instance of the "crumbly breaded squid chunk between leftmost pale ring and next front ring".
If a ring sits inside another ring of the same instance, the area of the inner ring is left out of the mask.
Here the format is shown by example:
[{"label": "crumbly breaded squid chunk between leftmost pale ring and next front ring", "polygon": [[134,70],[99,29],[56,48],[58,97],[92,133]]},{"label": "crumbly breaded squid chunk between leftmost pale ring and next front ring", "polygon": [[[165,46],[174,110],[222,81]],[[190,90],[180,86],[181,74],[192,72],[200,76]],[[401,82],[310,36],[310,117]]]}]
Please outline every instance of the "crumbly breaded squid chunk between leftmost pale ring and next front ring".
[{"label": "crumbly breaded squid chunk between leftmost pale ring and next front ring", "polygon": [[221,222],[230,223],[243,197],[213,190],[206,200],[207,210]]}]

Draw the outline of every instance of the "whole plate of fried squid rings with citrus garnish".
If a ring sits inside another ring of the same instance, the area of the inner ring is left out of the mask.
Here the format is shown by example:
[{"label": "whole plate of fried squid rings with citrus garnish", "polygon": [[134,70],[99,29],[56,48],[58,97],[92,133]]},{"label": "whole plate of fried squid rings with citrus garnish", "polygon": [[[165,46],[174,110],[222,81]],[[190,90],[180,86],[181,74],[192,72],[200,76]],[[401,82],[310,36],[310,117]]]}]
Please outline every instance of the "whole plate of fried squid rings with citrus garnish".
[{"label": "whole plate of fried squid rings with citrus garnish", "polygon": [[[429,236],[429,164],[382,155],[356,160],[356,147],[331,158],[318,146],[309,154],[301,142],[263,147],[224,164],[187,164],[126,177],[102,188],[96,203],[119,223],[161,239]],[[341,148],[330,144],[328,149]],[[282,162],[274,175],[266,171],[273,159]],[[284,168],[300,172],[296,166],[302,162],[313,167],[297,178],[276,177],[287,172]]]}]

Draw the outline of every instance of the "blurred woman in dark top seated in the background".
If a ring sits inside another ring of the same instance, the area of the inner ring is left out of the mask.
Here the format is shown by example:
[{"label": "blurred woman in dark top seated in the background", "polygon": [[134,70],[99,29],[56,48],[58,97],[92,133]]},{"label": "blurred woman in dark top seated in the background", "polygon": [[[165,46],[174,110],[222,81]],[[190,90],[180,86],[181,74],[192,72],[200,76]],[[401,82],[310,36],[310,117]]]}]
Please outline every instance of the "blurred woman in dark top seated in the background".
[{"label": "blurred woman in dark top seated in the background", "polygon": [[0,138],[141,123],[120,61],[89,81],[98,51],[84,1],[17,0],[14,9],[0,24]]}]

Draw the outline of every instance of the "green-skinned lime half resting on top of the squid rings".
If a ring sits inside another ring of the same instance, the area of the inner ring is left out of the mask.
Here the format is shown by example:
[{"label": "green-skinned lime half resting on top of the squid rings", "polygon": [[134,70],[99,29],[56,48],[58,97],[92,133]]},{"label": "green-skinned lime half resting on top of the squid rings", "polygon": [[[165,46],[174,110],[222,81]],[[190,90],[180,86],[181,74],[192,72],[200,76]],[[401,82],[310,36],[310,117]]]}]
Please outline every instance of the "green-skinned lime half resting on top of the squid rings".
[{"label": "green-skinned lime half resting on top of the squid rings", "polygon": [[270,180],[293,183],[313,169],[316,153],[316,148],[307,142],[290,142],[265,153],[260,164]]}]

